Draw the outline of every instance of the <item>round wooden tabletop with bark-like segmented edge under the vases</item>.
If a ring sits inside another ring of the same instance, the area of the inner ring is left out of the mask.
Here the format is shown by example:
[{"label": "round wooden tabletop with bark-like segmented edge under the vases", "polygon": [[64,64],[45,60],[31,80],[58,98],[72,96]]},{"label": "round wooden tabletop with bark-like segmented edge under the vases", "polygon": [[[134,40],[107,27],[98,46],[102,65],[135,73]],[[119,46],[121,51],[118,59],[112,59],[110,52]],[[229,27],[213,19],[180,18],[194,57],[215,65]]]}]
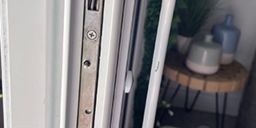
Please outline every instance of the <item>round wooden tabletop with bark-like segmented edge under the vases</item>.
[{"label": "round wooden tabletop with bark-like segmented edge under the vases", "polygon": [[221,65],[213,75],[201,75],[189,70],[185,65],[185,56],[176,52],[169,53],[163,75],[183,86],[206,92],[231,92],[244,87],[247,81],[247,70],[237,61]]}]

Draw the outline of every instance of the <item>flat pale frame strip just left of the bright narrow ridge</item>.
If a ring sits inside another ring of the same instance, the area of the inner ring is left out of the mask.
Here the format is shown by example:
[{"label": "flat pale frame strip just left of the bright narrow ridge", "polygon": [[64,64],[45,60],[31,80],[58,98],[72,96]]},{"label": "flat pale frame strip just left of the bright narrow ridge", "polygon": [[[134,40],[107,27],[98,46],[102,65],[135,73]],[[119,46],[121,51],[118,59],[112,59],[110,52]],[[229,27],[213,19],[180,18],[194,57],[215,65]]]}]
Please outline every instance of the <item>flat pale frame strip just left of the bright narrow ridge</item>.
[{"label": "flat pale frame strip just left of the bright narrow ridge", "polygon": [[[45,127],[60,127],[64,1],[47,1]],[[25,74],[24,74],[25,75]]]}]

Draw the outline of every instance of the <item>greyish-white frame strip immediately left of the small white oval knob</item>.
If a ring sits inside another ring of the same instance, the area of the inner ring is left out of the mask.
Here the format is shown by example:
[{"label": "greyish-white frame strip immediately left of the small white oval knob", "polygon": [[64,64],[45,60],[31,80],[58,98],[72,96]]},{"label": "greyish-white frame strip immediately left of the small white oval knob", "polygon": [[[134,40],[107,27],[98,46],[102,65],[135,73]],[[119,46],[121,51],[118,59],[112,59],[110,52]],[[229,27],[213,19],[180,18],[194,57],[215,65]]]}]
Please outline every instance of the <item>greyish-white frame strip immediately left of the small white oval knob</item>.
[{"label": "greyish-white frame strip immediately left of the small white oval knob", "polygon": [[128,52],[131,42],[130,39],[134,15],[134,3],[135,0],[125,1],[111,128],[119,128],[120,121],[122,120],[120,119],[120,117],[125,88],[125,75],[127,71]]}]

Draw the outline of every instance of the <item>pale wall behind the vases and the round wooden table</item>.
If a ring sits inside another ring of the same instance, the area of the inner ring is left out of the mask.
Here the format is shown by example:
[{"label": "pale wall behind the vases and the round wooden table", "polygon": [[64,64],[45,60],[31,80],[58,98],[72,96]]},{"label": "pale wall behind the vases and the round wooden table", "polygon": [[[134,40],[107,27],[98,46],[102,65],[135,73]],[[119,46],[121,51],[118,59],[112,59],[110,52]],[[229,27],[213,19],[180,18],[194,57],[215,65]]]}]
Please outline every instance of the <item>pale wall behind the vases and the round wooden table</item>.
[{"label": "pale wall behind the vases and the round wooden table", "polygon": [[[202,27],[201,32],[196,35],[196,38],[202,38],[205,33],[209,33],[211,26],[214,23],[223,22],[227,13],[234,15],[234,25],[241,30],[241,38],[236,52],[236,60],[241,62],[247,70],[250,70],[254,51],[256,48],[256,15],[255,15],[255,0],[221,0],[214,14],[209,18],[206,25]],[[174,91],[176,84],[171,84]],[[191,99],[195,95],[195,91],[191,91]],[[185,99],[185,88],[177,95],[174,101],[174,106],[183,107]],[[242,90],[228,94],[227,99],[227,114],[236,116],[238,114],[239,104],[241,101]],[[219,107],[222,110],[223,95],[220,96]],[[191,101],[191,100],[190,100]],[[198,99],[195,109],[201,111],[215,112],[215,95],[213,93],[202,93]]]}]

